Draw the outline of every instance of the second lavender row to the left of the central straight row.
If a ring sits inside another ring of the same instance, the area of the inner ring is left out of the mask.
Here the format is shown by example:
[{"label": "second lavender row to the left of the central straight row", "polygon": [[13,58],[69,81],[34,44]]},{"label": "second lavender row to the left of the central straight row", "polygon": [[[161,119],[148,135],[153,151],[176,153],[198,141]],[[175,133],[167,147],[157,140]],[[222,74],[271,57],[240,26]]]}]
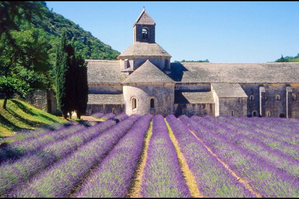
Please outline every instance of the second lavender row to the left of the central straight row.
[{"label": "second lavender row to the left of the central straight row", "polygon": [[12,192],[13,197],[67,197],[90,169],[102,161],[121,137],[133,126],[138,115],[118,123],[74,154],[37,175],[28,187]]}]

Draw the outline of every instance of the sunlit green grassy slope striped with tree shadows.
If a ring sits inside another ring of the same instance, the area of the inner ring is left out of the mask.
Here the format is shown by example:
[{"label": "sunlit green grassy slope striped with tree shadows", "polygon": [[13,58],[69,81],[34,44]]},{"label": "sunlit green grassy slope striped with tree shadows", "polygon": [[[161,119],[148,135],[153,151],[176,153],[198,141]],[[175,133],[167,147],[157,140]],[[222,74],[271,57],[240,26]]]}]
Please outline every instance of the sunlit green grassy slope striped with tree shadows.
[{"label": "sunlit green grassy slope striped with tree shadows", "polygon": [[66,121],[18,99],[8,100],[7,110],[2,108],[2,104],[3,99],[0,99],[0,137],[12,136],[13,132],[26,128]]}]

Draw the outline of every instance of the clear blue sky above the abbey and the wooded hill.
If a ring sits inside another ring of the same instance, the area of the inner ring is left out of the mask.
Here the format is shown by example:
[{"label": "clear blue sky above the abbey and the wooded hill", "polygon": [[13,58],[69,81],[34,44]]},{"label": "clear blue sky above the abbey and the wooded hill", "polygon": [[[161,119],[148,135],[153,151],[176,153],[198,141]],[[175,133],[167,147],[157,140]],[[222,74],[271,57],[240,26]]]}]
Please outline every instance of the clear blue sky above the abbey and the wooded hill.
[{"label": "clear blue sky above the abbey and the wooded hill", "polygon": [[145,6],[171,61],[270,62],[299,53],[299,2],[47,2],[120,52]]}]

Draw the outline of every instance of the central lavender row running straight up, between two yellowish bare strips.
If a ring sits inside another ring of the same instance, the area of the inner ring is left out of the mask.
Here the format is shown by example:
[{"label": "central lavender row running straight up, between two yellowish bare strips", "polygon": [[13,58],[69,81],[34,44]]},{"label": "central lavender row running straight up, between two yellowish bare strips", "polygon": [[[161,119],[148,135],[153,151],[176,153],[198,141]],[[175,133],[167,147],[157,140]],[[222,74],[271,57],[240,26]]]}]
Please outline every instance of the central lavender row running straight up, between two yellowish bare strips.
[{"label": "central lavender row running straight up, between two yellowish bare strips", "polygon": [[142,197],[191,197],[162,115],[153,118],[153,135],[141,183]]}]

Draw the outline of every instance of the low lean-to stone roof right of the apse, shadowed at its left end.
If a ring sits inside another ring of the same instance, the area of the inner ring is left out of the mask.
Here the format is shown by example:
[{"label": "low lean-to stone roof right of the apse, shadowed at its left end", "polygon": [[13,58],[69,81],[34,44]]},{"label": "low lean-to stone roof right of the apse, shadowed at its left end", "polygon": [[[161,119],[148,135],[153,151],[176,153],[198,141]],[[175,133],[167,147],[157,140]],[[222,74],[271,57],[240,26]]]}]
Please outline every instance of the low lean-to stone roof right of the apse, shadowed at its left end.
[{"label": "low lean-to stone roof right of the apse, shadowed at its left end", "polygon": [[174,91],[174,104],[213,104],[212,92],[180,92]]}]

